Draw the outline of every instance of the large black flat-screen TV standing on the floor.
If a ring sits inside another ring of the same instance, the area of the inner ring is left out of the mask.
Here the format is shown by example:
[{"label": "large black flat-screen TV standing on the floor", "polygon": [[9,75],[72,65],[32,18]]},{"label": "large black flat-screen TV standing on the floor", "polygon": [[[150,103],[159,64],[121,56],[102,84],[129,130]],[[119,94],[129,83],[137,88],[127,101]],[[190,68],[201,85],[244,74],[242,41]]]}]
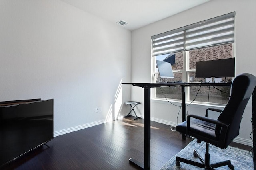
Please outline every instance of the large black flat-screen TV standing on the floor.
[{"label": "large black flat-screen TV standing on the floor", "polygon": [[53,139],[53,99],[1,103],[0,168]]}]

